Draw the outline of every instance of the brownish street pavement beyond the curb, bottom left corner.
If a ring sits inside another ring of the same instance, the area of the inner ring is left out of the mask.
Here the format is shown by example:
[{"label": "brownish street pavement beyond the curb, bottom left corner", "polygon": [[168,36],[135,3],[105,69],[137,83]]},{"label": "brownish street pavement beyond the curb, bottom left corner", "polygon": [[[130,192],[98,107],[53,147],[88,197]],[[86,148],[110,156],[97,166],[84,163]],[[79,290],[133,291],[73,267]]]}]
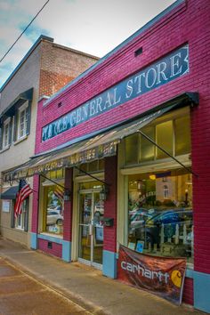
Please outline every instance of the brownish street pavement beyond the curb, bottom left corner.
[{"label": "brownish street pavement beyond the curb, bottom left corner", "polygon": [[0,257],[0,315],[90,315]]}]

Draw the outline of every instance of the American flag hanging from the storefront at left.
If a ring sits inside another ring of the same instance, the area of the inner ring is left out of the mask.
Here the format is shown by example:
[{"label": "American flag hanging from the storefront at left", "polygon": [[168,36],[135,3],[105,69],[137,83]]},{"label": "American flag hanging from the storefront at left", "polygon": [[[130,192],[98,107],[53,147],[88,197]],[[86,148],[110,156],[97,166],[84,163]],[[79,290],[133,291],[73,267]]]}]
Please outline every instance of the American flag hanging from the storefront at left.
[{"label": "American flag hanging from the storefront at left", "polygon": [[17,193],[16,201],[15,201],[15,205],[14,205],[15,218],[17,218],[18,215],[21,214],[22,203],[26,198],[28,198],[29,194],[31,194],[32,192],[33,192],[33,190],[30,188],[28,182],[26,182],[26,180],[20,180],[19,191]]}]

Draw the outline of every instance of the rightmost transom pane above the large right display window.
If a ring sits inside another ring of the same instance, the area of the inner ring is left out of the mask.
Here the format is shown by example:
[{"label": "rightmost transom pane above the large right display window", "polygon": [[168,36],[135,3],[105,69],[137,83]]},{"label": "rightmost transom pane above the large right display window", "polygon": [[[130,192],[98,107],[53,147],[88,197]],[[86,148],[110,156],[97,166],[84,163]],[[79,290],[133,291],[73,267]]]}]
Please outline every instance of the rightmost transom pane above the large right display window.
[{"label": "rightmost transom pane above the large right display window", "polygon": [[190,153],[190,116],[175,119],[175,155]]}]

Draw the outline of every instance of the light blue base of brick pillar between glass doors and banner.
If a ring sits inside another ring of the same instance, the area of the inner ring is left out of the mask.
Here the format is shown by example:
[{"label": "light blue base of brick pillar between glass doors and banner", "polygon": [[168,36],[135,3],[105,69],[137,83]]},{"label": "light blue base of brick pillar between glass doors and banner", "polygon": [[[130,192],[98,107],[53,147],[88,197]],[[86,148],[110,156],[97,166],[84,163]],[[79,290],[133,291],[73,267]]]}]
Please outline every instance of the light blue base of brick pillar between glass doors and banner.
[{"label": "light blue base of brick pillar between glass doors and banner", "polygon": [[103,251],[103,268],[102,272],[104,276],[112,279],[117,278],[117,257],[116,253]]}]

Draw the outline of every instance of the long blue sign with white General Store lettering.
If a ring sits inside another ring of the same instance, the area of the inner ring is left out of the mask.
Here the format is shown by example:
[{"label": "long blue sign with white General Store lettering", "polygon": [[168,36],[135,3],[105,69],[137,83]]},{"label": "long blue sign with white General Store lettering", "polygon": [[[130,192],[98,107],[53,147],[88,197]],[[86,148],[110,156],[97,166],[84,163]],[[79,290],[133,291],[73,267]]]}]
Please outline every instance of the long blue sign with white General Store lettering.
[{"label": "long blue sign with white General Store lettering", "polygon": [[114,109],[160,85],[165,85],[177,77],[182,77],[188,72],[189,46],[185,45],[133,76],[127,77],[77,109],[69,111],[68,114],[54,120],[51,124],[45,125],[42,130],[42,141],[47,141],[57,134],[99,116],[109,109]]}]

